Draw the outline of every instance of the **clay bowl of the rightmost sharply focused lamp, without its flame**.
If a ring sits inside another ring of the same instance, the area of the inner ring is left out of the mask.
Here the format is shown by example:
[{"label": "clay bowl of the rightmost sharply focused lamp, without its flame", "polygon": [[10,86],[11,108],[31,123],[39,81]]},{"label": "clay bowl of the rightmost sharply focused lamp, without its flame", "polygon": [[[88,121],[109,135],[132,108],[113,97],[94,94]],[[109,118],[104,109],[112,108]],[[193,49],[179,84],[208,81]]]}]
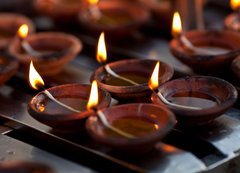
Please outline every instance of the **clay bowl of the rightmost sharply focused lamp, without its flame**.
[{"label": "clay bowl of the rightmost sharply focused lamp, without its flame", "polygon": [[[159,92],[169,102],[201,108],[201,110],[189,110],[165,104],[175,113],[180,126],[208,123],[221,116],[237,100],[237,91],[233,85],[208,76],[175,79],[160,86]],[[152,102],[164,104],[155,93],[152,94]]]}]

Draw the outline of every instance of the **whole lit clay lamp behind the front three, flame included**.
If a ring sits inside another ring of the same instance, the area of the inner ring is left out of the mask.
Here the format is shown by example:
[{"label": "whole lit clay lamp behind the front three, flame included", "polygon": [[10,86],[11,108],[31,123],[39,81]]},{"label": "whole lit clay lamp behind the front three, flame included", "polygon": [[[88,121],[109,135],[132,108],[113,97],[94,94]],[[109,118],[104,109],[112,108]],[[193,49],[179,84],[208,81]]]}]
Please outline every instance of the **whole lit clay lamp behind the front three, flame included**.
[{"label": "whole lit clay lamp behind the front three, flame included", "polygon": [[[148,88],[148,77],[156,63],[155,60],[121,60],[106,64],[107,53],[104,34],[99,39],[97,60],[103,64],[92,75],[91,80],[97,80],[99,87],[104,88],[119,101],[150,101],[151,90]],[[126,68],[126,65],[131,68]],[[161,83],[169,80],[173,69],[166,63],[161,63]]]}]

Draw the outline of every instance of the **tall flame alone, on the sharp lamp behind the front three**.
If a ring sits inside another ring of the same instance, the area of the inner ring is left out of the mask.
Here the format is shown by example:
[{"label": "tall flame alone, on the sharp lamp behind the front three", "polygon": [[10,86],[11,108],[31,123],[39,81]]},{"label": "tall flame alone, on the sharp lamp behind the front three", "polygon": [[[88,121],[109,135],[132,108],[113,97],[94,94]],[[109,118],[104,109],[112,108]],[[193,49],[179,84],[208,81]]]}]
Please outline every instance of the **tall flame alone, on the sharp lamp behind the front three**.
[{"label": "tall flame alone, on the sharp lamp behind the front three", "polygon": [[105,35],[104,32],[101,33],[98,39],[98,48],[97,48],[97,61],[101,63],[105,63],[107,61],[107,50],[105,44]]}]

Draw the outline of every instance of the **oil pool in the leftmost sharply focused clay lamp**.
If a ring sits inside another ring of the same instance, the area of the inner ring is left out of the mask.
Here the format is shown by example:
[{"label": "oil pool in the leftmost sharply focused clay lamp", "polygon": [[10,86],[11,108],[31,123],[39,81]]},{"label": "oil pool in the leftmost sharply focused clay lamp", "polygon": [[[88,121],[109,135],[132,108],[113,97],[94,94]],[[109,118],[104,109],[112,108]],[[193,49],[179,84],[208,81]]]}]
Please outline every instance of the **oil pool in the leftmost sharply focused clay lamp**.
[{"label": "oil pool in the leftmost sharply focused clay lamp", "polygon": [[[80,111],[86,110],[87,99],[80,98],[80,97],[55,97],[58,101]],[[37,104],[37,108],[39,111],[46,113],[46,114],[73,114],[75,112],[68,110],[57,104],[56,102],[52,101],[49,98],[46,98],[44,102],[40,102]]]}]

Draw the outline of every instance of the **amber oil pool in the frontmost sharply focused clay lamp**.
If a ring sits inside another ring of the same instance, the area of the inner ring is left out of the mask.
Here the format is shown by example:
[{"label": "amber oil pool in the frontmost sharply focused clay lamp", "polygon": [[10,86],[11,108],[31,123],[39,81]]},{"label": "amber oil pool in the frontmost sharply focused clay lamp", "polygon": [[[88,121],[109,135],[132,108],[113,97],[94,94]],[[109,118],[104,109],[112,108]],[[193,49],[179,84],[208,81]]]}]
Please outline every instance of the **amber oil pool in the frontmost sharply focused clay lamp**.
[{"label": "amber oil pool in the frontmost sharply focused clay lamp", "polygon": [[[114,120],[112,126],[118,128],[126,133],[141,137],[156,131],[159,127],[157,124],[141,117],[127,116]],[[112,137],[123,137],[120,134],[105,128],[105,133]]]}]

